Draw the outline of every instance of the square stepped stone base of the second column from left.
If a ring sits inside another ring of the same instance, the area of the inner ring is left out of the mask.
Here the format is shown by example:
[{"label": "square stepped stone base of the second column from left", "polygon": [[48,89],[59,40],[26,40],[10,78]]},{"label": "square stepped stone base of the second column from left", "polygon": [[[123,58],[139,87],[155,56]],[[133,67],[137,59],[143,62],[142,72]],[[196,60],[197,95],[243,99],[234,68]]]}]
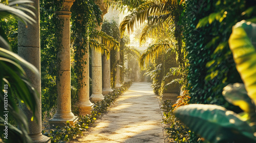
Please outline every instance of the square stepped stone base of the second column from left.
[{"label": "square stepped stone base of the second column from left", "polygon": [[[69,114],[73,114],[72,112],[71,113],[69,113]],[[63,116],[65,116],[66,114],[55,114],[54,116],[53,116],[53,118],[51,118],[50,120],[49,120],[49,124],[50,124],[50,126],[52,127],[52,125],[54,125],[55,127],[56,126],[59,126],[59,127],[65,127],[66,126],[66,124],[67,124],[67,121],[69,121],[69,124],[71,124],[72,126],[74,126],[75,125],[75,123],[77,122],[77,120],[78,120],[78,117],[77,116],[74,116],[74,114],[73,115],[71,115],[71,116],[69,116],[69,117],[63,117]]]}]

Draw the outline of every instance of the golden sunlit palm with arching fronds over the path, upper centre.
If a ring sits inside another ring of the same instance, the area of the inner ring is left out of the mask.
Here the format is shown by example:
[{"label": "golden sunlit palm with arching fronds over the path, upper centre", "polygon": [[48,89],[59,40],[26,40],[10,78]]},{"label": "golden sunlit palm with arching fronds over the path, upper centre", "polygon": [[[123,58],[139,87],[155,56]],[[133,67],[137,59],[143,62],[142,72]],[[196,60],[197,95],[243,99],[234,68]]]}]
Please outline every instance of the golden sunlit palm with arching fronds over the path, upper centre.
[{"label": "golden sunlit palm with arching fronds over the path, upper centre", "polygon": [[129,33],[134,31],[136,25],[142,25],[143,22],[147,21],[147,25],[143,28],[140,35],[140,44],[145,42],[148,38],[154,37],[159,29],[164,27],[173,28],[175,39],[177,44],[172,42],[171,35],[167,36],[165,40],[160,40],[154,45],[148,47],[145,53],[142,54],[140,63],[144,64],[144,61],[152,59],[158,55],[159,51],[164,51],[170,48],[174,48],[178,56],[180,66],[184,66],[184,51],[182,50],[182,27],[178,25],[179,17],[183,9],[182,1],[178,2],[175,0],[152,0],[143,3],[131,14],[127,15],[120,24],[121,34],[127,31]]}]

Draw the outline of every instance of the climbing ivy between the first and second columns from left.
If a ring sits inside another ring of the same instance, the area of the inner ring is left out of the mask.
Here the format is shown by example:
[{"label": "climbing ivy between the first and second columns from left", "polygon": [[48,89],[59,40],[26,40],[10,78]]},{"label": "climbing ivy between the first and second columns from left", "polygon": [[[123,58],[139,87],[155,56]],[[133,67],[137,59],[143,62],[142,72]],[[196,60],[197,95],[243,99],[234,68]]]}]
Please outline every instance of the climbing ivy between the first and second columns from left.
[{"label": "climbing ivy between the first and second columns from left", "polygon": [[40,47],[41,47],[41,106],[42,116],[50,115],[57,99],[57,53],[60,49],[61,22],[57,12],[62,1],[40,1]]}]

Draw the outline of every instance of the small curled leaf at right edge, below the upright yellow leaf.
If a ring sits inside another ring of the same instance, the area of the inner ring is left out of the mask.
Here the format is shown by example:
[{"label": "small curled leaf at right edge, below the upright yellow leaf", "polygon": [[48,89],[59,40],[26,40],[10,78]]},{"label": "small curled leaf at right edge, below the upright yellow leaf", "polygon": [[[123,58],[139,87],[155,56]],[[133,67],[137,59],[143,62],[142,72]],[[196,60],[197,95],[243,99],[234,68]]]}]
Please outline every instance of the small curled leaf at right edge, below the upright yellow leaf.
[{"label": "small curled leaf at right edge, below the upright yellow leaf", "polygon": [[229,84],[223,88],[222,94],[229,103],[239,106],[247,113],[255,114],[255,104],[248,97],[244,84]]}]

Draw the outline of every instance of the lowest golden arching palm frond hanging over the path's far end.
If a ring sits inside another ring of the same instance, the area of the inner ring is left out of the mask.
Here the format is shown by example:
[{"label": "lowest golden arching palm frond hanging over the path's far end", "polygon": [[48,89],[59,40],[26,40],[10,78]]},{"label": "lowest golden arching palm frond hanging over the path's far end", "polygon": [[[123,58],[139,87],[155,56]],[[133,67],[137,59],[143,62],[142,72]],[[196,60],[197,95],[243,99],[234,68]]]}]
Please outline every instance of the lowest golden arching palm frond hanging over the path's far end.
[{"label": "lowest golden arching palm frond hanging over the path's far end", "polygon": [[144,63],[147,65],[154,57],[158,57],[159,53],[171,49],[173,42],[171,39],[160,40],[159,42],[150,45],[140,57],[140,67],[143,69]]}]

